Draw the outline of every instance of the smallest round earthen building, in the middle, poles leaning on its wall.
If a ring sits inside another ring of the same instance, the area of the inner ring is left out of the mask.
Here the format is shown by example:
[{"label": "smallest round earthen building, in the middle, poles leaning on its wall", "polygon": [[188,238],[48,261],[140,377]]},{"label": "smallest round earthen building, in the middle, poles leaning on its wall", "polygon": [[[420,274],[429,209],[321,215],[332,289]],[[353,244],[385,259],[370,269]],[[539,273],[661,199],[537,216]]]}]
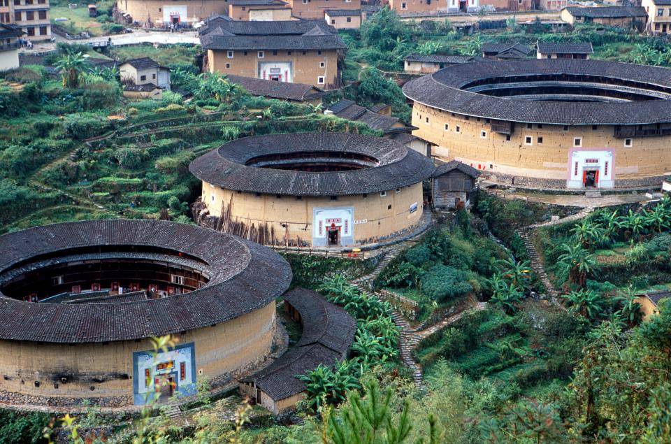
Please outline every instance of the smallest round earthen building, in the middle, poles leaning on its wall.
[{"label": "smallest round earthen building, in the middle, poles leaning on its wall", "polygon": [[386,138],[273,134],[240,138],[194,160],[199,223],[268,245],[347,247],[424,223],[431,159]]}]

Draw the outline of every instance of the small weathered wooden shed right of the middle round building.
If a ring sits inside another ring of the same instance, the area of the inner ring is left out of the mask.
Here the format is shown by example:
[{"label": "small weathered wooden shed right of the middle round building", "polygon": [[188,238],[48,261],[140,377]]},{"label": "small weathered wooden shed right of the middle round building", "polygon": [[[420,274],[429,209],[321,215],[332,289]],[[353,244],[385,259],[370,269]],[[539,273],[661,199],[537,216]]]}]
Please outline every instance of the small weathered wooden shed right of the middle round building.
[{"label": "small weathered wooden shed right of the middle round building", "polygon": [[468,207],[472,196],[477,191],[476,180],[480,172],[453,160],[436,167],[431,176],[431,196],[434,208],[447,210]]}]

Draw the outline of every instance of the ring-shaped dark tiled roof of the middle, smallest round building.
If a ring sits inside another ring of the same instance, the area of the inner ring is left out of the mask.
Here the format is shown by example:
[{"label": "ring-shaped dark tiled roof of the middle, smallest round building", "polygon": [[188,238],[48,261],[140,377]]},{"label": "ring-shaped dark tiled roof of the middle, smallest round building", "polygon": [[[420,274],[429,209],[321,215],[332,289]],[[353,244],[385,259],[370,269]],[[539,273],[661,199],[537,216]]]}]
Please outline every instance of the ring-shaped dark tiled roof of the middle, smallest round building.
[{"label": "ring-shaped dark tiled roof of the middle, smallest round building", "polygon": [[[253,157],[288,152],[354,152],[379,164],[352,171],[307,172],[246,166]],[[387,191],[421,182],[433,162],[386,138],[341,133],[271,134],[240,138],[195,159],[189,171],[212,185],[245,192],[335,196]]]}]

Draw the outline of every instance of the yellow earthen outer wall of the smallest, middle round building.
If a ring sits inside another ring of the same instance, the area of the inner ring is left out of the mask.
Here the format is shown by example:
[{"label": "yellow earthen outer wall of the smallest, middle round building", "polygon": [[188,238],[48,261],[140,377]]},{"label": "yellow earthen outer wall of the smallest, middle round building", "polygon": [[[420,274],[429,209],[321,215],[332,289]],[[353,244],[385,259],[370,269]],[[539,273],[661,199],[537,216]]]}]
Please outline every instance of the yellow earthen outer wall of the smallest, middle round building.
[{"label": "yellow earthen outer wall of the smallest, middle round building", "polygon": [[[278,245],[298,238],[312,245],[313,208],[353,208],[356,244],[384,240],[407,230],[420,222],[422,213],[421,183],[403,187],[399,192],[391,189],[386,196],[376,192],[366,197],[338,196],[337,200],[329,196],[303,196],[298,200],[296,196],[238,193],[203,182],[202,199],[210,215],[220,217],[222,209],[225,211],[230,205],[230,218],[234,222],[243,222],[247,227],[253,224],[257,229],[265,224],[273,229]],[[413,203],[417,203],[417,210],[410,213]]]}]

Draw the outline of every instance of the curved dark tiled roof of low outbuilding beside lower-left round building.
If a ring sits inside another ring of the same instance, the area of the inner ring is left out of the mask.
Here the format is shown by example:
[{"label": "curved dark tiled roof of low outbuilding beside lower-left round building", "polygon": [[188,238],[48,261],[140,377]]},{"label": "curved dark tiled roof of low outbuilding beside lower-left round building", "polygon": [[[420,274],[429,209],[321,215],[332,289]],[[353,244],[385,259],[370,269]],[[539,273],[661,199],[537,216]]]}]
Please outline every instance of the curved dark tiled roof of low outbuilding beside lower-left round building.
[{"label": "curved dark tiled roof of low outbuilding beside lower-left round building", "polygon": [[298,288],[284,295],[284,300],[301,313],[303,335],[296,348],[289,350],[264,370],[243,378],[275,401],[305,391],[305,375],[319,364],[332,366],[345,359],[356,334],[356,320],[342,308],[326,302],[310,290]]}]

